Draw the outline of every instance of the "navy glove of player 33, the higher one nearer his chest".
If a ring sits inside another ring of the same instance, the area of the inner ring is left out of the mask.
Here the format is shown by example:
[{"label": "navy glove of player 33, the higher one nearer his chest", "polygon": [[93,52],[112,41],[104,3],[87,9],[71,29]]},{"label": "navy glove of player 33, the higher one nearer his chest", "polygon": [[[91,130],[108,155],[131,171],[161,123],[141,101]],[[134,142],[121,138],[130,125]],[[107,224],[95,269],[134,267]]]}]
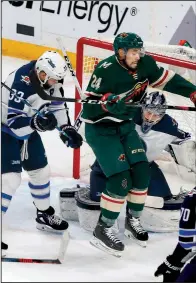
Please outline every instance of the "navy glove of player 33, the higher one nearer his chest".
[{"label": "navy glove of player 33, the higher one nearer his chest", "polygon": [[35,114],[30,121],[31,128],[39,132],[52,131],[57,126],[57,119],[52,113],[44,114],[44,118]]}]

